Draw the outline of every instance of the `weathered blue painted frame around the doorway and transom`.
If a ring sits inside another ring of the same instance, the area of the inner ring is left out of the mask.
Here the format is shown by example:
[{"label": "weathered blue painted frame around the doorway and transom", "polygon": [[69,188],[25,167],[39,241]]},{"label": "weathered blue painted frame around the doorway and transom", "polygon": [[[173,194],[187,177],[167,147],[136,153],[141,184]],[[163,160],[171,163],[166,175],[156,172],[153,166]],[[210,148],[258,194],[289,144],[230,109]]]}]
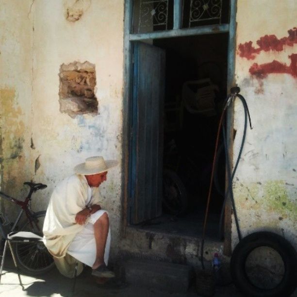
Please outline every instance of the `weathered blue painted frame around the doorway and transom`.
[{"label": "weathered blue painted frame around the doorway and transom", "polygon": [[[126,226],[130,223],[129,219],[129,202],[131,201],[132,193],[132,160],[131,160],[131,121],[133,116],[132,108],[132,48],[133,42],[143,41],[156,38],[172,38],[190,35],[214,34],[214,33],[229,33],[228,43],[228,80],[227,89],[234,85],[235,71],[235,32],[236,32],[236,3],[237,0],[230,1],[230,22],[229,24],[201,26],[196,28],[181,29],[181,0],[175,0],[174,6],[174,26],[173,30],[159,31],[152,33],[132,33],[132,0],[125,0],[125,18],[124,18],[124,118],[123,118],[123,223]],[[232,148],[232,127],[233,127],[233,112],[228,115],[228,140]],[[232,149],[231,149],[232,150]],[[230,155],[232,151],[229,152]],[[232,158],[231,158],[232,160]],[[231,208],[226,206],[227,217],[225,219],[225,238],[231,243]],[[229,221],[229,222],[228,222]],[[226,233],[226,229],[228,229]],[[226,241],[225,241],[226,243]],[[226,246],[226,245],[225,245]],[[228,249],[228,247],[227,247]],[[227,252],[228,253],[228,252]]]}]

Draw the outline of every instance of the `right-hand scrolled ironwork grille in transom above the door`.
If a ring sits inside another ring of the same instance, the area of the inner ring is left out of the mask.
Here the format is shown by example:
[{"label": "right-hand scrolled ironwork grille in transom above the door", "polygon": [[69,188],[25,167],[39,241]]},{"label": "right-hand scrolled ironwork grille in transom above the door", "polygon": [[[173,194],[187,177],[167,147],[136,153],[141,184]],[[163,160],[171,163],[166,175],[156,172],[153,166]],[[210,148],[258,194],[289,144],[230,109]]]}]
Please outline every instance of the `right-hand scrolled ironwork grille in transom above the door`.
[{"label": "right-hand scrolled ironwork grille in transom above the door", "polygon": [[191,0],[189,27],[193,22],[219,20],[221,22],[222,0]]}]

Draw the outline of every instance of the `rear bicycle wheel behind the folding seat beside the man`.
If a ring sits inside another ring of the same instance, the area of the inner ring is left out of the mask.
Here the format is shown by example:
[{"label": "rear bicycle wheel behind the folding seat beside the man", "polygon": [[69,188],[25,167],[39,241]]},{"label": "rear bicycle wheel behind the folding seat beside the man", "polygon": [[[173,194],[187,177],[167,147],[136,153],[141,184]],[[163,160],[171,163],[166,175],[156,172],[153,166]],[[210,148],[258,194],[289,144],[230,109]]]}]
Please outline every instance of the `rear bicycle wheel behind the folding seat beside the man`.
[{"label": "rear bicycle wheel behind the folding seat beside the man", "polygon": [[[33,224],[26,222],[21,231],[32,231],[42,235],[46,211],[34,214]],[[48,272],[54,267],[54,261],[43,242],[16,243],[16,261],[19,268],[28,274],[38,275]]]}]

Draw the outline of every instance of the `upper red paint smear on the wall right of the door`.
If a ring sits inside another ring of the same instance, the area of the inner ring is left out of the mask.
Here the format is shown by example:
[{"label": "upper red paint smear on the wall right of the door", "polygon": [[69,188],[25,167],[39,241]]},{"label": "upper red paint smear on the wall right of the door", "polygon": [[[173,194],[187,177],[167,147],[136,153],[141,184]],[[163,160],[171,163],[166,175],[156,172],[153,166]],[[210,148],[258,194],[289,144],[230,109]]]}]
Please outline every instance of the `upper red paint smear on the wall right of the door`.
[{"label": "upper red paint smear on the wall right of the door", "polygon": [[255,59],[261,51],[282,51],[286,46],[293,47],[297,43],[297,28],[288,30],[288,36],[277,38],[276,35],[264,35],[257,40],[258,48],[254,48],[252,41],[241,43],[238,46],[239,56],[247,60]]}]

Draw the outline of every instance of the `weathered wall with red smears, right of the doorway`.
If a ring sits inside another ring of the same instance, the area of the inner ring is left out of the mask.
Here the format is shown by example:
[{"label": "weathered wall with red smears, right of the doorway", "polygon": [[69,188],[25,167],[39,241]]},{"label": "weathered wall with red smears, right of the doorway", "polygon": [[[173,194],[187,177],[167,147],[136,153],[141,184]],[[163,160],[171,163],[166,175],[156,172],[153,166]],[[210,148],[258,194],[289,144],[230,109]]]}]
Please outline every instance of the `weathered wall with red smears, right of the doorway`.
[{"label": "weathered wall with red smears, right of the doorway", "polygon": [[[239,0],[236,82],[247,99],[253,130],[234,179],[243,236],[274,231],[297,247],[297,2]],[[234,162],[244,114],[235,104]],[[233,244],[237,232],[232,224]]]}]

